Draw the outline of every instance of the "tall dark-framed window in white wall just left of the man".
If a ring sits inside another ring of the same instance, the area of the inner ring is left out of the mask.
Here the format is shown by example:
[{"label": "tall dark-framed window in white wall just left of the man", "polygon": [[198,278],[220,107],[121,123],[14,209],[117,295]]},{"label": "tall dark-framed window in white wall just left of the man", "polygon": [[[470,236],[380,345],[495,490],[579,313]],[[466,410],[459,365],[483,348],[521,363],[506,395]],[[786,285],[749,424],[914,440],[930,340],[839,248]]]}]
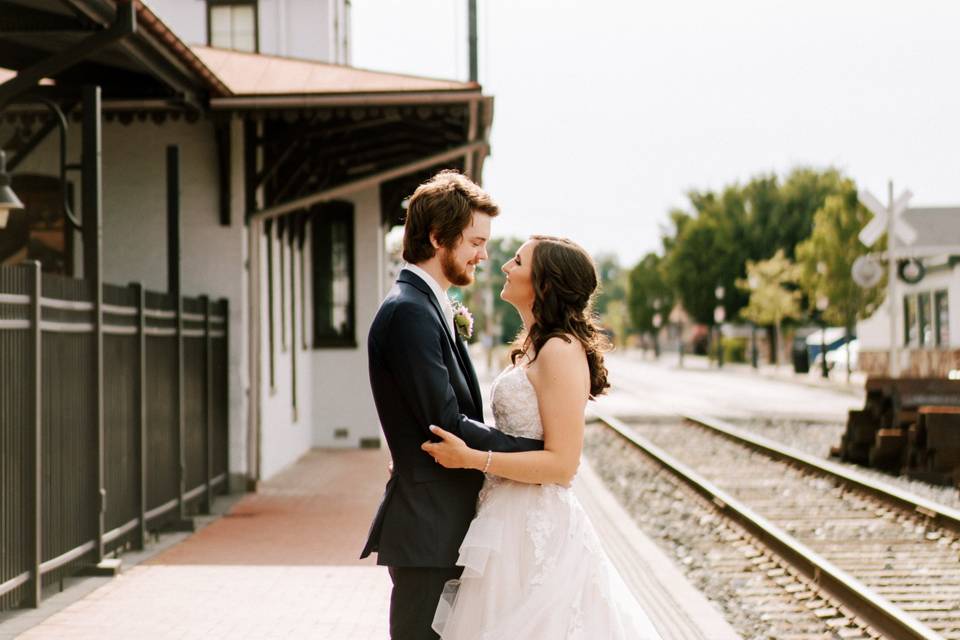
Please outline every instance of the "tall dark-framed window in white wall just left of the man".
[{"label": "tall dark-framed window in white wall just left of the man", "polygon": [[331,202],[311,219],[313,346],[355,347],[353,205]]}]

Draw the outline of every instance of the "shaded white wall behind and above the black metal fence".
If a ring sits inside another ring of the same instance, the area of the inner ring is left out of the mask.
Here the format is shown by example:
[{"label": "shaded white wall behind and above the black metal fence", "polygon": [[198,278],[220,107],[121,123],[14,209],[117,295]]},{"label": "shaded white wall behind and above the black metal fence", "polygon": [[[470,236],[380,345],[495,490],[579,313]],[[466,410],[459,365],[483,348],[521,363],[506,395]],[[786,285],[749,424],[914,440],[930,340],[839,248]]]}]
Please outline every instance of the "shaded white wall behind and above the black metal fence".
[{"label": "shaded white wall behind and above the black metal fence", "polygon": [[[80,158],[80,124],[71,122],[68,160]],[[180,147],[182,286],[188,296],[225,297],[230,304],[230,470],[246,471],[246,230],[243,224],[242,137],[233,124],[232,221],[220,224],[217,153],[213,125],[150,119],[129,125],[104,122],[103,279],[126,285],[141,282],[152,291],[167,290],[166,147]],[[9,126],[0,127],[7,135]],[[59,147],[49,136],[17,173],[57,175]],[[79,176],[70,175],[78,215]],[[82,241],[75,241],[75,264],[82,264]]]}]

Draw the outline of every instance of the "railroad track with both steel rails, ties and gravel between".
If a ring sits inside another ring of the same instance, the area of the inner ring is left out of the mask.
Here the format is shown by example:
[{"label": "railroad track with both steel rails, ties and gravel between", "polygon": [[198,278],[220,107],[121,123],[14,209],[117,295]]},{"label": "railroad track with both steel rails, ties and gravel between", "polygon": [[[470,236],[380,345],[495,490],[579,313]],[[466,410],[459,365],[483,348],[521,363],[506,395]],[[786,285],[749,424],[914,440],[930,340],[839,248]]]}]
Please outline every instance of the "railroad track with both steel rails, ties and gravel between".
[{"label": "railroad track with both steel rails, ties and gravel between", "polygon": [[836,604],[820,611],[867,636],[960,640],[960,511],[713,418],[597,418]]}]

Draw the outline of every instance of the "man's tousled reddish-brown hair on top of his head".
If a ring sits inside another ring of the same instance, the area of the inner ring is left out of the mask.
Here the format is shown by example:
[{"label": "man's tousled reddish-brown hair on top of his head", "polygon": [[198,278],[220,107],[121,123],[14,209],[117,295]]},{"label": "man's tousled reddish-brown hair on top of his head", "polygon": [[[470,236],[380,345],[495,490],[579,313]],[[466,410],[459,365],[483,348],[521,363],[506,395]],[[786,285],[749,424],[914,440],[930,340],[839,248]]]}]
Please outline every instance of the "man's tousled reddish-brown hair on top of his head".
[{"label": "man's tousled reddish-brown hair on top of his head", "polygon": [[431,233],[440,246],[454,248],[473,221],[474,212],[492,218],[500,213],[500,207],[463,174],[445,170],[433,176],[410,196],[403,229],[403,259],[418,264],[432,258],[436,249],[430,242]]}]

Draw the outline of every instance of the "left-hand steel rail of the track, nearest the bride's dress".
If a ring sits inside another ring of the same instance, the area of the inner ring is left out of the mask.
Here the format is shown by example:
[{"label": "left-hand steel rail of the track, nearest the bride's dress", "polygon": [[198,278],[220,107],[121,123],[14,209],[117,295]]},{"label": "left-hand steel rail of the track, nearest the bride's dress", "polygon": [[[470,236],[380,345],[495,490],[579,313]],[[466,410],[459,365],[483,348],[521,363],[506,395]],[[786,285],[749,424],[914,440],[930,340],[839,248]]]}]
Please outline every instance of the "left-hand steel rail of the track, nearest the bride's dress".
[{"label": "left-hand steel rail of the track, nearest the bride's dress", "polygon": [[635,433],[622,421],[594,410],[593,415],[637,447],[647,457],[710,500],[730,520],[743,527],[771,551],[792,565],[834,600],[884,637],[895,640],[943,640],[943,637],[875,593],[847,572],[787,534],[747,505]]}]

